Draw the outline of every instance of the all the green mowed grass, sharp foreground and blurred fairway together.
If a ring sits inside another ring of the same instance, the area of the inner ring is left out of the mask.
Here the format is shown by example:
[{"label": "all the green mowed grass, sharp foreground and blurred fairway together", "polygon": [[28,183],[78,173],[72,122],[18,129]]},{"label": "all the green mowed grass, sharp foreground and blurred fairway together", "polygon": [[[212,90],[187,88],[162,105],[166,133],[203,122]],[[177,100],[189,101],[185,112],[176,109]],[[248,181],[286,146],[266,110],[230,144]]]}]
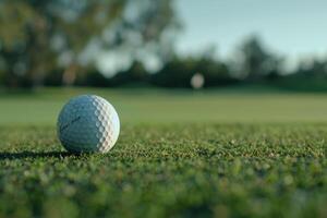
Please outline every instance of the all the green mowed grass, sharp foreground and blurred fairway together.
[{"label": "all the green mowed grass, sharp foreground and blurred fairway together", "polygon": [[[327,95],[149,90],[1,95],[0,217],[327,216]],[[121,114],[107,155],[57,140],[81,93]]]}]

